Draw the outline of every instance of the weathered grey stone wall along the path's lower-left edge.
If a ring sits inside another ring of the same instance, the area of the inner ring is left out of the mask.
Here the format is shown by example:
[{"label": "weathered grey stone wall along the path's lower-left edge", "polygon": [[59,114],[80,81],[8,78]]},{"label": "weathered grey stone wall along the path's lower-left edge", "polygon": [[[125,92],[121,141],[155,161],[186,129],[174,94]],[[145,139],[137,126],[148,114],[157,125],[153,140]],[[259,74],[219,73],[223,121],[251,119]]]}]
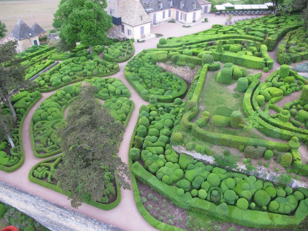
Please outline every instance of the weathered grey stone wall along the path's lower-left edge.
[{"label": "weathered grey stone wall along the path's lower-left edge", "polygon": [[0,201],[17,208],[50,230],[122,230],[3,182],[0,182]]}]

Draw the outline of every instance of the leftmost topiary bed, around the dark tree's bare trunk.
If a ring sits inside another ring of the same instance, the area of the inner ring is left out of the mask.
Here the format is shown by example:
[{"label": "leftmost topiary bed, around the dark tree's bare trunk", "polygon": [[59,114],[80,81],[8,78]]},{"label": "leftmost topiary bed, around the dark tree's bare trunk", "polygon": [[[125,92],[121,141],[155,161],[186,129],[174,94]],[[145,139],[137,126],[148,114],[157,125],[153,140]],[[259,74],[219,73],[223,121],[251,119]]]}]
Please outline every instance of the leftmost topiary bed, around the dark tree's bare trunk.
[{"label": "leftmost topiary bed, around the dark tree's bare trunk", "polygon": [[[11,137],[15,147],[11,148],[6,138],[0,140],[0,170],[15,171],[24,163],[25,153],[22,139],[24,120],[29,110],[41,97],[42,94],[38,91],[23,91],[13,96],[11,102],[17,115],[17,126],[11,131]],[[3,115],[11,114],[10,109],[5,107],[4,104],[1,107]]]}]

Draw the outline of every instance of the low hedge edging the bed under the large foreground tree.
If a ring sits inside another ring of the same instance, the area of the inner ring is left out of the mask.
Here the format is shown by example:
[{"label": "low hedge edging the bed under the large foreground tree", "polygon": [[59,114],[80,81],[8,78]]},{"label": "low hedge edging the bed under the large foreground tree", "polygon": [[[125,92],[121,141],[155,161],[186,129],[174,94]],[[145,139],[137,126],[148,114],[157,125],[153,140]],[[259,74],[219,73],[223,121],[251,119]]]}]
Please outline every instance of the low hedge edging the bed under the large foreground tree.
[{"label": "low hedge edging the bed under the large foreground tree", "polygon": [[[40,180],[40,179],[37,179],[35,177],[33,177],[33,171],[38,167],[40,166],[42,163],[45,163],[45,162],[50,162],[50,161],[53,161],[53,160],[56,160],[57,158],[61,157],[60,156],[56,156],[56,157],[52,157],[50,159],[47,159],[47,160],[44,160],[44,161],[41,161],[41,162],[38,162],[37,164],[35,164],[30,172],[29,172],[29,180],[35,184],[38,184],[38,185],[41,185],[43,187],[46,187],[46,188],[49,188],[49,189],[52,189],[56,192],[60,192],[61,194],[63,195],[66,195],[66,196],[69,196],[69,194],[65,194],[62,189],[58,186],[59,182],[57,185],[53,185],[53,184],[50,184],[46,181],[43,181],[43,180]],[[110,210],[110,209],[113,209],[115,207],[117,207],[121,201],[121,190],[120,190],[120,185],[119,185],[119,182],[117,181],[117,177],[115,177],[115,182],[116,182],[116,187],[117,187],[117,199],[110,203],[110,204],[104,204],[104,203],[99,203],[99,202],[94,202],[94,201],[89,201],[87,199],[84,198],[84,202],[87,203],[87,204],[90,204],[92,206],[95,206],[95,207],[98,207],[100,209],[103,209],[103,210]]]}]

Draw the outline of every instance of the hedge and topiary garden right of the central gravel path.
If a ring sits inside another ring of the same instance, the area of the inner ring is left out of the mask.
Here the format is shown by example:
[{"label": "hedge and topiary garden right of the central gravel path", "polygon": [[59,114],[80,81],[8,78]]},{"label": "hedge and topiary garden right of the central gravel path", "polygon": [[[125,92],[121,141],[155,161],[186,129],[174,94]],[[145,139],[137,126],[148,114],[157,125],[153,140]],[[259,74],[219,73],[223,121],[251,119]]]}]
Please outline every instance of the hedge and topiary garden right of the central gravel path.
[{"label": "hedge and topiary garden right of the central gravel path", "polygon": [[[306,188],[286,186],[289,181],[283,183],[282,178],[266,181],[246,175],[256,169],[253,163],[265,160],[265,169],[274,163],[289,173],[307,176],[307,165],[301,161],[305,153],[298,149],[307,138],[308,82],[286,65],[261,80],[274,65],[267,51],[288,31],[296,33],[293,30],[301,26],[296,19],[293,15],[281,23],[279,17],[265,16],[233,26],[214,25],[183,37],[161,38],[157,49],[144,50],[128,62],[127,80],[150,102],[140,108],[129,157],[135,199],[152,226],[171,228],[170,223],[149,215],[136,180],[179,207],[248,227],[294,228],[308,214]],[[165,97],[163,84],[145,82],[150,74],[143,71],[162,73],[160,67],[152,67],[160,63],[199,69],[184,103],[181,95],[175,95],[173,103]],[[211,94],[213,98],[207,100]],[[205,103],[209,101],[213,102]],[[164,122],[160,122],[162,118]],[[253,122],[257,125],[248,132]],[[255,128],[262,136],[252,134]],[[181,153],[180,146],[188,154]],[[218,153],[221,149],[225,150]],[[230,154],[235,149],[243,155],[240,162]],[[213,156],[215,165],[195,159],[192,150]],[[242,162],[247,168],[244,174],[237,168]]]}]

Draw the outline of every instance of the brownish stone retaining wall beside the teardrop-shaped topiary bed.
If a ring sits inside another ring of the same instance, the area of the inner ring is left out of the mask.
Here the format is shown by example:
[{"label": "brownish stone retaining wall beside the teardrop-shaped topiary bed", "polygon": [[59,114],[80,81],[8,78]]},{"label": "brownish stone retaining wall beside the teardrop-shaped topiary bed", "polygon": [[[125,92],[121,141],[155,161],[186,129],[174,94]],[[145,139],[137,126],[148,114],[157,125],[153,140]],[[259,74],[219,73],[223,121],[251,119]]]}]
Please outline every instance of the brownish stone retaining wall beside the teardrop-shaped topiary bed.
[{"label": "brownish stone retaining wall beside the teardrop-shaped topiary bed", "polygon": [[174,67],[171,63],[156,63],[156,65],[162,67],[164,71],[169,71],[180,76],[187,83],[192,83],[199,69],[199,66],[191,69],[188,65]]}]

